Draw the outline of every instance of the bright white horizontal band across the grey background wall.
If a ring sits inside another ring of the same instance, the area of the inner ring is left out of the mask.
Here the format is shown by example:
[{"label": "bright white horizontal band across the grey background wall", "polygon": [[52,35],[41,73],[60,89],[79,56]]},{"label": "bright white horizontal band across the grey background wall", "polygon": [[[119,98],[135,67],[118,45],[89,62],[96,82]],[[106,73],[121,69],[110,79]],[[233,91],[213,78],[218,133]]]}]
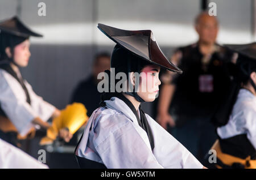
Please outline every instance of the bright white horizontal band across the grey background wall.
[{"label": "bright white horizontal band across the grey background wall", "polygon": [[[151,29],[160,46],[180,46],[197,41],[193,25],[157,22],[101,22],[121,29]],[[84,44],[114,45],[98,28],[96,23],[66,23],[31,27],[42,33],[43,38],[31,38],[35,44]],[[250,31],[235,31],[220,28],[217,41],[220,44],[242,44],[251,42]]]}]

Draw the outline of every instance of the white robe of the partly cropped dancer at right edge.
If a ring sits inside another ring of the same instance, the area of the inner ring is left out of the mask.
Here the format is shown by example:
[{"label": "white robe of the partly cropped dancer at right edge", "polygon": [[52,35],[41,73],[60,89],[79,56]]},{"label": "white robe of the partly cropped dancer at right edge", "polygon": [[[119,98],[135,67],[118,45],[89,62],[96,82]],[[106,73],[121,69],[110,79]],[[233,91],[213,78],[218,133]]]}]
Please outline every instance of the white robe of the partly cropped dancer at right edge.
[{"label": "white robe of the partly cropped dancer at right edge", "polygon": [[246,89],[240,89],[229,121],[217,128],[221,139],[246,134],[256,149],[256,96]]}]

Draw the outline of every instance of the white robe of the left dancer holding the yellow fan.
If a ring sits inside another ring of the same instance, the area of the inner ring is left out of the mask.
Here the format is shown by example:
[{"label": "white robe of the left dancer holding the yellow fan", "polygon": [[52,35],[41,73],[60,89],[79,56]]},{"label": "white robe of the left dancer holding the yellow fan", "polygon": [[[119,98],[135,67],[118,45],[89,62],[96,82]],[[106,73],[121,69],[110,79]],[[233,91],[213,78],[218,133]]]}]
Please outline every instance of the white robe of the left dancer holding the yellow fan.
[{"label": "white robe of the left dancer holding the yellow fan", "polygon": [[36,95],[30,84],[24,81],[31,105],[26,101],[26,94],[19,82],[9,72],[0,69],[0,105],[7,117],[13,122],[20,135],[26,135],[35,117],[47,121],[55,110],[55,106]]}]

